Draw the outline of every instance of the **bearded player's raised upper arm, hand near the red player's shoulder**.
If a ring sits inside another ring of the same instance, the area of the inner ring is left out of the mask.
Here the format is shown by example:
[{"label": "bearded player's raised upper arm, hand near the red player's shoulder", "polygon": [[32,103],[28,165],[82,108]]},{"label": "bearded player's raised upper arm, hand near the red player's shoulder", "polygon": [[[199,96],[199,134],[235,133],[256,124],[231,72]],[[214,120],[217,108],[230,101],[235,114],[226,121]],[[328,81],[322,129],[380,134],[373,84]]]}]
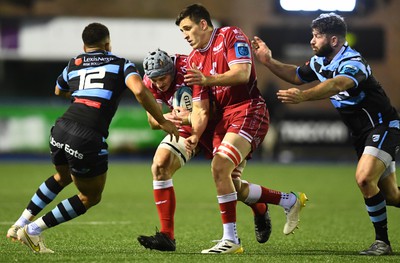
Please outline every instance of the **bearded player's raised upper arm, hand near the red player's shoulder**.
[{"label": "bearded player's raised upper arm, hand near the red player's shoulder", "polygon": [[282,63],[272,57],[272,51],[259,37],[251,41],[253,53],[264,66],[282,80],[294,85],[302,85],[304,82],[297,76],[296,65]]}]

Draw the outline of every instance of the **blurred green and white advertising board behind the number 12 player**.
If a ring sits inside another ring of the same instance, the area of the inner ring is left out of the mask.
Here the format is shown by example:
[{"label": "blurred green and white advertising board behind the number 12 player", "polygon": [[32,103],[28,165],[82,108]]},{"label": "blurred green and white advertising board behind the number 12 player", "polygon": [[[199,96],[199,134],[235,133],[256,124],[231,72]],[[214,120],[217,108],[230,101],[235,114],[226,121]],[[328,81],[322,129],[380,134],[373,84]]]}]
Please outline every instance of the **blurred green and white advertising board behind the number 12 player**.
[{"label": "blurred green and white advertising board behind the number 12 player", "polygon": [[[0,154],[48,153],[50,128],[64,111],[64,106],[0,106]],[[164,134],[150,129],[142,108],[120,106],[107,142],[113,153],[152,151]]]}]

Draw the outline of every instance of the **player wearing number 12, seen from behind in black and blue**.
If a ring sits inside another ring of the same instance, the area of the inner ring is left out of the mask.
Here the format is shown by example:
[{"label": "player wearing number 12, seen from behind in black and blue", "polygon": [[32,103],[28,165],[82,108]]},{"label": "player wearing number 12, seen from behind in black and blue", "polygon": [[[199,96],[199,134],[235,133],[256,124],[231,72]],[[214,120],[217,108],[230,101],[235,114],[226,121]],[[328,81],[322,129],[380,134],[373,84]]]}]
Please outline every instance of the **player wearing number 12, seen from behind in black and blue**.
[{"label": "player wearing number 12, seen from behind in black and blue", "polygon": [[[97,205],[107,177],[106,138],[122,93],[129,89],[161,129],[176,137],[176,126],[166,120],[151,92],[143,85],[135,64],[111,53],[108,28],[91,23],[82,33],[84,53],[72,58],[57,78],[55,94],[72,103],[51,129],[50,152],[56,173],[44,181],[7,237],[18,239],[35,253],[53,253],[42,231],[84,214]],[[64,187],[74,182],[79,193],[35,217]],[[34,221],[33,221],[34,220]]]}]

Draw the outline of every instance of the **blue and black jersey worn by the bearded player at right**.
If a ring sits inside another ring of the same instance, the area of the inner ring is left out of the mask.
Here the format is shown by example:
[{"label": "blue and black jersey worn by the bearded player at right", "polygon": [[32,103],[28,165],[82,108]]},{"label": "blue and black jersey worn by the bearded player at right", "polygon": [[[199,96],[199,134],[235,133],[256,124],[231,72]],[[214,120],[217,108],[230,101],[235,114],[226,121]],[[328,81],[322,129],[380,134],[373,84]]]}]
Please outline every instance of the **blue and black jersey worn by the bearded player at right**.
[{"label": "blue and black jersey worn by the bearded player at right", "polygon": [[399,114],[372,75],[370,66],[347,43],[330,62],[324,57],[313,56],[297,68],[297,75],[303,82],[323,82],[336,76],[354,81],[354,87],[330,98],[353,135],[360,135],[379,124],[399,128]]}]

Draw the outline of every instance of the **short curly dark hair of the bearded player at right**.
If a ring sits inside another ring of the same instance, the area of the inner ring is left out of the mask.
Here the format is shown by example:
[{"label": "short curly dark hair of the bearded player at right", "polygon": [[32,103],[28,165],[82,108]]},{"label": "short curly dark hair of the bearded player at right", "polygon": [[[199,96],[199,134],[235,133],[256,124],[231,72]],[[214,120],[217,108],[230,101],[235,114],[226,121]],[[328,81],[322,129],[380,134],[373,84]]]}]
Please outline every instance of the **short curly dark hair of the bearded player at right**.
[{"label": "short curly dark hair of the bearded player at right", "polygon": [[311,29],[316,29],[321,34],[346,37],[347,25],[344,18],[335,14],[321,14],[311,22]]}]

